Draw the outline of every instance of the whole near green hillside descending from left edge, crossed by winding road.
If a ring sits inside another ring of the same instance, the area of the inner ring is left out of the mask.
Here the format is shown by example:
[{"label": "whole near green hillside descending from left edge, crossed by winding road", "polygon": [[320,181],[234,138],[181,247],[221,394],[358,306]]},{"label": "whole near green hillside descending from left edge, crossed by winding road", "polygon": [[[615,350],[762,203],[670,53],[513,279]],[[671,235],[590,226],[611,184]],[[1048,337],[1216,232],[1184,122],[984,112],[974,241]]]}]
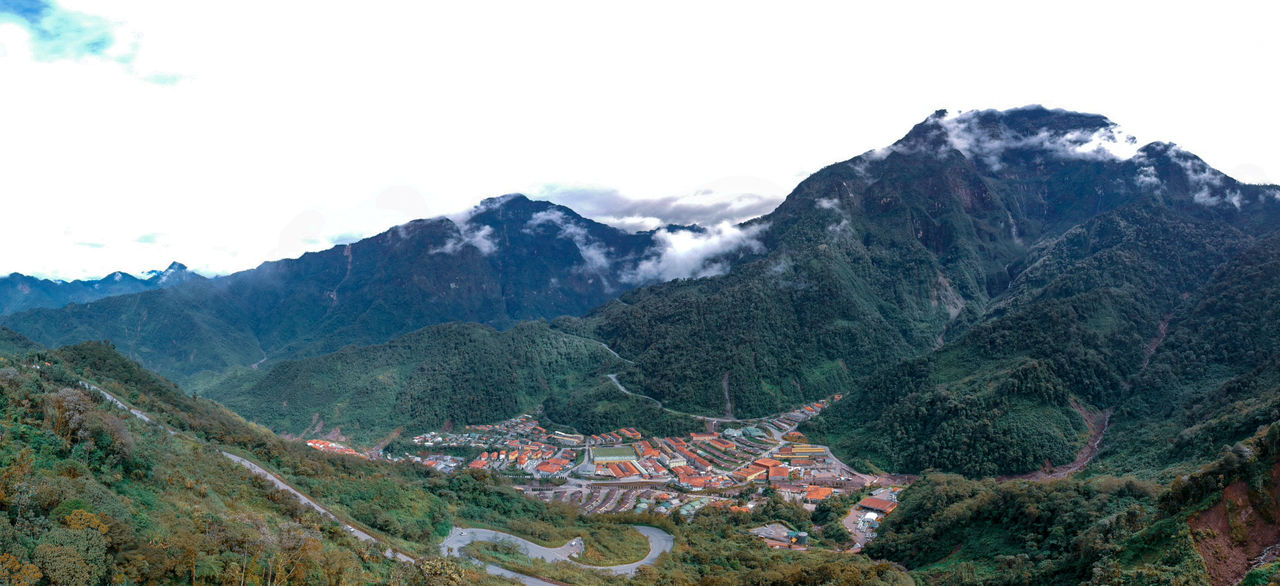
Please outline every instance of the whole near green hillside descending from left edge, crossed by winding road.
[{"label": "whole near green hillside descending from left edge, crossed by winding road", "polygon": [[[547,545],[581,539],[595,558],[579,559],[608,562],[648,551],[628,523],[690,545],[631,577],[566,564],[541,572],[567,583],[913,583],[893,564],[865,557],[762,550],[746,528],[781,502],[756,516],[687,523],[652,513],[588,516],[483,471],[445,476],[410,461],[285,441],[109,344],[40,358],[38,368],[0,366],[4,583],[507,585],[515,582],[442,557],[442,539],[456,526]],[[119,408],[125,403],[132,413]]]}]

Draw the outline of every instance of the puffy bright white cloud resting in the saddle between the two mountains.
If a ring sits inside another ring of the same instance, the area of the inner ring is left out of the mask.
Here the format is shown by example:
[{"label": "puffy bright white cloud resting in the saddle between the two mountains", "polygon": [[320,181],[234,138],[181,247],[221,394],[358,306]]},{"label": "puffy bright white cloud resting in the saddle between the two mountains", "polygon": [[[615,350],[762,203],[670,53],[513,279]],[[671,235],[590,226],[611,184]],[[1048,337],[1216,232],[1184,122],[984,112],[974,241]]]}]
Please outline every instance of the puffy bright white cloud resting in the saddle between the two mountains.
[{"label": "puffy bright white cloud resting in the saddle between the two mountains", "polygon": [[768,229],[767,224],[748,226],[722,221],[701,230],[668,230],[654,233],[654,256],[640,261],[635,269],[625,271],[625,283],[650,283],[672,279],[700,279],[728,273],[724,255],[746,249],[764,252],[756,237]]}]

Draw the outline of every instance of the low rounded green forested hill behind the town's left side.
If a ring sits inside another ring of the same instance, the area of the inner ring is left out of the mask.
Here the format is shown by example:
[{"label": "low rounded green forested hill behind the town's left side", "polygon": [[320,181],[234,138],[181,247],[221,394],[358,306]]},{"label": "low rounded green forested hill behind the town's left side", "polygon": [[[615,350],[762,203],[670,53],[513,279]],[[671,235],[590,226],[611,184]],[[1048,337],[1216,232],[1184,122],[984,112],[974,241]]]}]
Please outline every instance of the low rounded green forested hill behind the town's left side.
[{"label": "low rounded green forested hill behind the town's left side", "polygon": [[229,377],[207,395],[280,432],[372,443],[397,427],[426,431],[513,417],[550,395],[591,388],[622,366],[598,342],[545,322],[502,333],[445,324]]}]

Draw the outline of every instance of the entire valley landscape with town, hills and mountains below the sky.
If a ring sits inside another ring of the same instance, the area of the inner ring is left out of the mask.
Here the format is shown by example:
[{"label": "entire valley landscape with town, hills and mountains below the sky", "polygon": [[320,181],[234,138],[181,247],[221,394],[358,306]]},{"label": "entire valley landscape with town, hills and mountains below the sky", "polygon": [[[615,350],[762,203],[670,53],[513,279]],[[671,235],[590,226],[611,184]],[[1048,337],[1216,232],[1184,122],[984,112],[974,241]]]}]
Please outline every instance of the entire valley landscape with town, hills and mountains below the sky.
[{"label": "entire valley landscape with town, hills and mountains below the sky", "polygon": [[14,306],[0,571],[1266,583],[1280,188],[1117,137],[940,111],[736,225],[509,194]]}]

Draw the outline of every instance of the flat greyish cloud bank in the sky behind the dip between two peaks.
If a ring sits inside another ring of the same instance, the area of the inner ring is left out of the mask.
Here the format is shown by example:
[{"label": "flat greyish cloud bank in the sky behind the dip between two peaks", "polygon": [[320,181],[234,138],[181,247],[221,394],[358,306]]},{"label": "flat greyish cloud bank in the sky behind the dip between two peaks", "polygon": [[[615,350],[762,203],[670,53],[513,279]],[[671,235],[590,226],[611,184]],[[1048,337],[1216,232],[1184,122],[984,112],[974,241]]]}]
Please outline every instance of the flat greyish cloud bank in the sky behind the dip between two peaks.
[{"label": "flat greyish cloud bank in the sky behind the dip between two peaks", "polygon": [[[749,186],[724,186],[749,187]],[[664,225],[739,224],[773,211],[782,197],[741,191],[701,189],[690,196],[631,198],[616,189],[544,186],[539,198],[620,229],[640,232]]]}]

